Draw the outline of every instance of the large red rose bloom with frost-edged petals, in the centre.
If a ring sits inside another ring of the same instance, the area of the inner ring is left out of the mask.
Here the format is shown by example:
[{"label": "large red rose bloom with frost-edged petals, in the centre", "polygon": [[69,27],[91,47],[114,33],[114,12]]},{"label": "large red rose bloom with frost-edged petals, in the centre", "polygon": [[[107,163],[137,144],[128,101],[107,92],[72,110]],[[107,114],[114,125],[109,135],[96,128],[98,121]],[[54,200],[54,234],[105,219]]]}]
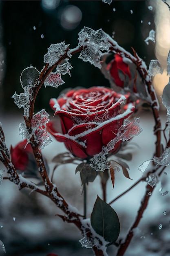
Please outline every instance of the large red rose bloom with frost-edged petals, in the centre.
[{"label": "large red rose bloom with frost-edged petals, in the centre", "polygon": [[[120,104],[125,99],[104,87],[71,90],[59,99],[50,100],[60,124],[50,121],[47,130],[57,141],[63,141],[73,155],[84,159],[93,157],[116,137],[124,119],[135,110],[130,103],[121,113]],[[120,146],[118,141],[110,152],[117,153]]]}]

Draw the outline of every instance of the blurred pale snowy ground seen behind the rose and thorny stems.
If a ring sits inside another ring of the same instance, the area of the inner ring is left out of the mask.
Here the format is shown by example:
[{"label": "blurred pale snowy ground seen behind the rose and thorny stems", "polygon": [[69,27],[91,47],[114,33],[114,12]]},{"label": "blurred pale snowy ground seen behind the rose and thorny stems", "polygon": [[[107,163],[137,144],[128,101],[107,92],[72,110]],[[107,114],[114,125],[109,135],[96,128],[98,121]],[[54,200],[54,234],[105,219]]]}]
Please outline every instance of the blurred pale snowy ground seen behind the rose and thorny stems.
[{"label": "blurred pale snowy ground seen behind the rose and thorny stems", "polygon": [[[164,124],[166,113],[161,112],[161,117]],[[11,144],[15,146],[22,139],[18,134],[18,124],[23,122],[22,116],[2,115],[0,121],[4,128],[7,146]],[[150,112],[141,113],[140,126],[143,132],[133,139],[139,147],[130,148],[133,159],[132,162],[127,162],[133,180],[128,180],[121,172],[116,173],[114,190],[111,182],[108,182],[108,202],[141,177],[139,165],[150,159],[154,153],[155,137],[152,132],[154,121]],[[63,144],[53,139],[53,143],[46,146],[42,152],[50,162],[53,156],[66,152],[66,149]],[[149,206],[125,255],[170,255],[170,193],[162,196],[159,192],[161,184],[163,191],[169,190],[169,168],[166,168],[166,172],[167,175],[162,175],[150,196]],[[59,167],[55,173],[55,183],[64,198],[83,211],[82,187],[79,174],[75,175],[75,165]],[[119,239],[124,239],[137,214],[145,193],[145,185],[145,182],[139,184],[112,205],[121,222]],[[88,218],[97,195],[102,196],[99,177],[88,185]],[[18,191],[14,184],[3,181],[0,186],[0,202],[0,240],[6,247],[6,254],[0,247],[0,255],[46,255],[49,252],[58,255],[93,255],[91,249],[81,247],[79,239],[82,236],[77,228],[55,216],[61,213],[60,210],[42,195],[29,194],[27,190]],[[163,214],[164,211],[166,215]],[[158,228],[160,224],[162,229]],[[115,246],[108,248],[109,255],[115,255],[116,252]]]}]

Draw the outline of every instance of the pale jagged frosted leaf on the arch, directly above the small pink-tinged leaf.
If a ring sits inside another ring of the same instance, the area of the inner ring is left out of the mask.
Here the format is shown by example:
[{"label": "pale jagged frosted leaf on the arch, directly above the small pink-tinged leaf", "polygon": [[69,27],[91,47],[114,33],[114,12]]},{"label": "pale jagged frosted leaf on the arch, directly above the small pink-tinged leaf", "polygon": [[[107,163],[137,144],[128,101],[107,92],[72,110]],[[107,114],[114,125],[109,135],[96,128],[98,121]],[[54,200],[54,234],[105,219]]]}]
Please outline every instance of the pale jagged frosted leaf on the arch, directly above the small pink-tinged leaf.
[{"label": "pale jagged frosted leaf on the arch, directly above the small pink-tinged leaf", "polygon": [[[51,67],[57,63],[57,61],[59,61],[59,59],[64,56],[64,54],[66,54],[68,46],[69,45],[65,45],[64,41],[50,45],[48,52],[44,55],[44,62],[49,63]],[[68,57],[71,57],[71,54],[69,54]]]}]

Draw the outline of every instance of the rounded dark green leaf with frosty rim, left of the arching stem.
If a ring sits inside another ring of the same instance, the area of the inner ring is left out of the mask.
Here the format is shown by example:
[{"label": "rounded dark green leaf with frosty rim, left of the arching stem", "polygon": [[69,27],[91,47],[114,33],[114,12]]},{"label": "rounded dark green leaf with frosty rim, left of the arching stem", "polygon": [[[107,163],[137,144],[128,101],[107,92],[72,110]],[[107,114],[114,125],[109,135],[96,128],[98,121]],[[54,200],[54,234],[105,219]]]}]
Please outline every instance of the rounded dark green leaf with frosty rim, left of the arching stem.
[{"label": "rounded dark green leaf with frosty rim, left of the arching stem", "polygon": [[35,67],[27,67],[22,71],[20,82],[22,87],[26,87],[27,85],[34,86],[37,82],[40,73]]}]

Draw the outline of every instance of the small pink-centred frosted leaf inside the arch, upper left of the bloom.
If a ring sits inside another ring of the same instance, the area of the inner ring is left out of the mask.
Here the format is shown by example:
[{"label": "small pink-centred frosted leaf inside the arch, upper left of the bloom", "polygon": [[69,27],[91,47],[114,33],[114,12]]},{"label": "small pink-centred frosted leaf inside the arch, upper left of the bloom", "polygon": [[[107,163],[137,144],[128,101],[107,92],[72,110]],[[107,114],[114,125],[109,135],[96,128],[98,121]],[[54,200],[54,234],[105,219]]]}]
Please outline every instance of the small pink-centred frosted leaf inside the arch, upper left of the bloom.
[{"label": "small pink-centred frosted leaf inside the arch, upper left of the bloom", "polygon": [[62,85],[63,83],[65,83],[60,74],[55,72],[51,72],[47,78],[45,79],[44,81],[44,86],[52,86],[52,87],[55,87],[55,88],[58,88],[59,85]]}]

